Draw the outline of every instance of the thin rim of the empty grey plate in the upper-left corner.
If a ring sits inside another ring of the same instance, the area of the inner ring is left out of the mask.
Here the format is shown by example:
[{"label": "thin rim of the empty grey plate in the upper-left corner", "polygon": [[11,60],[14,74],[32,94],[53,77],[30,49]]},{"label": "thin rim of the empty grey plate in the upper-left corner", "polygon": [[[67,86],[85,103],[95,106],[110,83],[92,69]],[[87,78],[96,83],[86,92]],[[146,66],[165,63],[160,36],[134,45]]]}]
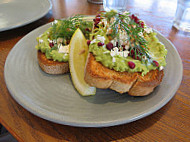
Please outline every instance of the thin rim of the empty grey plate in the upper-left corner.
[{"label": "thin rim of the empty grey plate in the upper-left corner", "polygon": [[12,26],[9,26],[9,27],[6,26],[4,28],[0,28],[0,32],[4,32],[4,31],[8,31],[8,30],[19,28],[19,27],[22,27],[22,26],[26,26],[26,25],[28,25],[28,24],[30,24],[32,22],[35,22],[35,21],[39,20],[40,18],[44,17],[52,9],[52,2],[51,2],[51,0],[45,0],[45,1],[48,2],[49,6],[39,16],[37,16],[36,18],[32,18],[32,20],[26,20],[25,22],[23,22],[21,24],[15,24],[15,25],[12,25]]}]

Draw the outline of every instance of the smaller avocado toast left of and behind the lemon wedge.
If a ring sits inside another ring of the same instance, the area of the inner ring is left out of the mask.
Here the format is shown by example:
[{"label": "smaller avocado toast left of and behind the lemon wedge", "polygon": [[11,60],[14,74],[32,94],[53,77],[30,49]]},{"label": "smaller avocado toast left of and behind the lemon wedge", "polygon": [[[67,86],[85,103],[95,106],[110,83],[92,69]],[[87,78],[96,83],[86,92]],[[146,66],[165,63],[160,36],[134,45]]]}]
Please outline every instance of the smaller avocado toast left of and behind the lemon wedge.
[{"label": "smaller avocado toast left of and behind the lemon wedge", "polygon": [[79,15],[55,20],[49,29],[37,37],[37,58],[44,72],[48,74],[69,72],[69,43],[77,28],[80,28],[88,39],[92,22],[83,20],[83,17]]}]

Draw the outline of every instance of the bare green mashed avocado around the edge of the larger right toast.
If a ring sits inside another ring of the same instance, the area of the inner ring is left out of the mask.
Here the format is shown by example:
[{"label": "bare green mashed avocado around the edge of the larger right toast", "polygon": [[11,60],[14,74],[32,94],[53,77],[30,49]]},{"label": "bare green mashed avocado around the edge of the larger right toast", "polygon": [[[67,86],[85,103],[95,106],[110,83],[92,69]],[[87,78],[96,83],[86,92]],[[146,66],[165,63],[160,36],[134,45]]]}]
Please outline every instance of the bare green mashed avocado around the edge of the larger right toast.
[{"label": "bare green mashed avocado around the edge of the larger right toast", "polygon": [[[157,39],[156,33],[152,32],[145,36],[148,42],[149,54],[151,57],[159,63],[160,66],[166,66],[166,54],[167,50],[164,45]],[[106,49],[106,46],[98,46],[98,40],[89,46],[89,51],[93,53],[96,61],[101,62],[105,67],[114,69],[120,72],[142,72],[142,75],[147,74],[150,70],[155,70],[158,67],[151,63],[144,64],[139,60],[135,60],[128,56],[124,58],[122,56],[115,56],[115,62],[113,62],[113,57],[110,55],[110,51]],[[107,43],[105,43],[107,44]],[[131,69],[128,66],[128,62],[132,61],[135,63],[135,68]]]}]

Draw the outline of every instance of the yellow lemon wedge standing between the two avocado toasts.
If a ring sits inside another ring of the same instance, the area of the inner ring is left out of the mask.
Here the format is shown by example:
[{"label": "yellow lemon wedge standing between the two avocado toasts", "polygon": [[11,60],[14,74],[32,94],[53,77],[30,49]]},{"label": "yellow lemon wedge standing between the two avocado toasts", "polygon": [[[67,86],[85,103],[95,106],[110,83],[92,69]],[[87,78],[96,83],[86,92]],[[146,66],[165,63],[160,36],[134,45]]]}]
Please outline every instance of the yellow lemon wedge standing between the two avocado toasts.
[{"label": "yellow lemon wedge standing between the two avocado toasts", "polygon": [[73,85],[82,96],[95,95],[96,88],[84,80],[84,70],[88,56],[88,45],[80,29],[73,34],[70,42],[69,68]]}]

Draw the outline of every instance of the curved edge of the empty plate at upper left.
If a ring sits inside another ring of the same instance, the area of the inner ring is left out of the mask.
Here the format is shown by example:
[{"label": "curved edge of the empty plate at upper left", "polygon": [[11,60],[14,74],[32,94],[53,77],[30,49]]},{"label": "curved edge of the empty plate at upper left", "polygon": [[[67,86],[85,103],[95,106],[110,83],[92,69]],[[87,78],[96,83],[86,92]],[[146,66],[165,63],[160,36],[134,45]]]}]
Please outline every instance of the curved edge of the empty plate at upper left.
[{"label": "curved edge of the empty plate at upper left", "polygon": [[8,31],[8,30],[11,30],[11,29],[16,29],[16,28],[28,25],[28,24],[30,24],[30,23],[32,23],[34,21],[37,21],[40,18],[44,17],[52,9],[52,2],[51,2],[51,0],[47,0],[47,1],[49,2],[49,8],[45,12],[43,12],[38,18],[32,19],[31,21],[25,22],[24,24],[14,25],[14,26],[10,26],[8,28],[6,28],[6,27],[5,28],[1,28],[0,32],[4,32],[4,31]]}]

